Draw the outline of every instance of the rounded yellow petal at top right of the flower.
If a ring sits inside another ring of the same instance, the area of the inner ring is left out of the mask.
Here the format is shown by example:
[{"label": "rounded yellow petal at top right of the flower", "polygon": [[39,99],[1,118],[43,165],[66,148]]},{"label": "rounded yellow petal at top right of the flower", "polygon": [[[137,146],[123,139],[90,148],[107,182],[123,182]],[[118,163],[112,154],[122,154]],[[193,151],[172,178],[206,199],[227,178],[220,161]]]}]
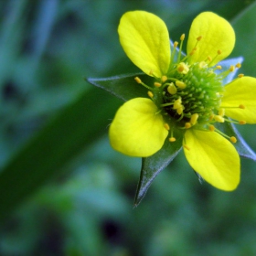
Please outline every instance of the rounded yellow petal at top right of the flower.
[{"label": "rounded yellow petal at top right of the flower", "polygon": [[234,48],[236,37],[229,22],[211,12],[198,15],[189,30],[187,41],[187,54],[189,54],[197,43],[197,37],[202,37],[197,44],[197,50],[189,58],[190,63],[203,61],[209,57],[214,59],[218,50],[221,54],[213,60],[211,66],[217,64],[221,59],[229,56]]}]

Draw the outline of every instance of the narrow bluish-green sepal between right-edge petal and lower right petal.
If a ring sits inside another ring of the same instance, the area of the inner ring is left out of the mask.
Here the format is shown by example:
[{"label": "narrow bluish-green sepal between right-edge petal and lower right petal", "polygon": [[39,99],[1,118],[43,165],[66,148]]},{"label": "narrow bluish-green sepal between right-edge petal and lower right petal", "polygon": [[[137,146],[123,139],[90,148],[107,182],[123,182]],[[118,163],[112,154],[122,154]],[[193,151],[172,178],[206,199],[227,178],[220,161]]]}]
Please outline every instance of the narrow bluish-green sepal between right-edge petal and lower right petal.
[{"label": "narrow bluish-green sepal between right-edge petal and lower right petal", "polygon": [[220,123],[219,125],[216,125],[216,127],[221,130],[221,132],[229,136],[235,136],[237,138],[237,142],[233,145],[235,146],[240,156],[256,161],[256,154],[253,152],[250,145],[245,142],[233,123]]}]

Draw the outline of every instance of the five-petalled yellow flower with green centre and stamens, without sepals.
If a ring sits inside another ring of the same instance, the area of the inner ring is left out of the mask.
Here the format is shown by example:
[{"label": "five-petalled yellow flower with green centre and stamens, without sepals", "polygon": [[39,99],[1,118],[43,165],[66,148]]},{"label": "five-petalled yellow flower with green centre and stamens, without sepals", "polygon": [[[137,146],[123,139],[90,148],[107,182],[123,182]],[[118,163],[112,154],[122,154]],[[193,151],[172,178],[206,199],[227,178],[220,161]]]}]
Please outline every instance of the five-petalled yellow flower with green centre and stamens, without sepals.
[{"label": "five-petalled yellow flower with green centre and stamens, without sepals", "polygon": [[216,126],[256,123],[256,79],[240,75],[223,86],[240,63],[215,72],[234,48],[229,22],[211,12],[197,16],[185,57],[181,51],[185,35],[180,37],[180,48],[175,42],[171,52],[164,21],[151,13],[125,13],[118,32],[126,55],[155,78],[155,85],[135,79],[149,90],[149,98],[134,98],[121,106],[110,126],[112,147],[125,155],[147,157],[159,151],[166,138],[176,143],[176,133],[182,132],[192,168],[214,187],[235,189],[240,183],[240,156],[230,141],[235,143],[236,138]]}]

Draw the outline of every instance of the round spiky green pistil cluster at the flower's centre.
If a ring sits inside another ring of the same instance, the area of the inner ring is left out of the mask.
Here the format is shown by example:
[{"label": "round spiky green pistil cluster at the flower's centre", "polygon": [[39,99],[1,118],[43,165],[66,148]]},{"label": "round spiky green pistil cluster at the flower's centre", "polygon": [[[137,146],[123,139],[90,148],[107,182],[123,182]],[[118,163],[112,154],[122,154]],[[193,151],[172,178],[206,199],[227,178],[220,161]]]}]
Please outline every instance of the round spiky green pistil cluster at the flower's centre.
[{"label": "round spiky green pistil cluster at the flower's centre", "polygon": [[163,88],[163,110],[179,121],[181,125],[189,122],[197,114],[197,123],[208,123],[214,114],[218,114],[223,92],[221,77],[205,62],[182,69],[177,64],[170,71],[171,77],[165,80]]}]

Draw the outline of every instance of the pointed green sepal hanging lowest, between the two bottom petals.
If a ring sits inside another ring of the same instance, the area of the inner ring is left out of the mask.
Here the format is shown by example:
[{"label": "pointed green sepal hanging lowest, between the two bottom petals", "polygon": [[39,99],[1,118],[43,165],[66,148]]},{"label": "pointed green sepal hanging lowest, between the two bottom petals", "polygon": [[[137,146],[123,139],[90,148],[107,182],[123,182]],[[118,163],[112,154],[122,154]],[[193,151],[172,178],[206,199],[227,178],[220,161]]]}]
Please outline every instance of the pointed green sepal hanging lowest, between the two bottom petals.
[{"label": "pointed green sepal hanging lowest, between the two bottom petals", "polygon": [[155,153],[155,155],[143,158],[141,176],[134,199],[134,207],[137,207],[142,201],[155,177],[174,160],[181,150],[183,133],[177,132],[178,131],[176,131],[175,134],[176,142],[170,143],[168,139],[166,139],[162,149]]}]

